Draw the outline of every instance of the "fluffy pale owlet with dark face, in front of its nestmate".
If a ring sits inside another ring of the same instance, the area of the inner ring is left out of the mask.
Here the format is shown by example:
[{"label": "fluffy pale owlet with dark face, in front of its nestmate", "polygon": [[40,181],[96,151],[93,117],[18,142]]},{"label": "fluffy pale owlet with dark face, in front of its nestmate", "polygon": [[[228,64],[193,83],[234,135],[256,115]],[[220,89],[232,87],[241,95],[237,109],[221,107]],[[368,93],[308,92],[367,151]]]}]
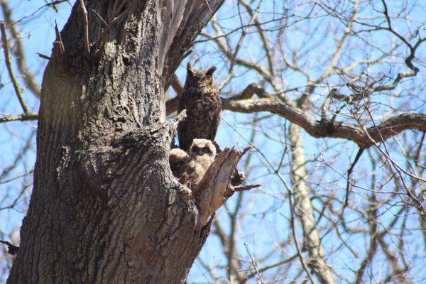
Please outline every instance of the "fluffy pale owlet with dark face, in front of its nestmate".
[{"label": "fluffy pale owlet with dark face, in front of its nestmate", "polygon": [[190,161],[183,171],[180,183],[186,185],[191,191],[195,190],[215,157],[216,148],[212,141],[194,139],[190,148]]}]

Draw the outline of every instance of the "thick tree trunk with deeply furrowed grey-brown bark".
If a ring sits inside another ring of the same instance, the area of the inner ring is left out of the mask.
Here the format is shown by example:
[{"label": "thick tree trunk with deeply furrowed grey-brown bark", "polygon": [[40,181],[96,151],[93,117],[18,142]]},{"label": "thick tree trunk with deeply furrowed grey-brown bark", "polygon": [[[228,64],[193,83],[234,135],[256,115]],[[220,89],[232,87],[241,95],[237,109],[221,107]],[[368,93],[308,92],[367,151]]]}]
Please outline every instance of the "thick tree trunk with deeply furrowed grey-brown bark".
[{"label": "thick tree trunk with deeply furrowed grey-brown bark", "polygon": [[89,52],[79,1],[55,43],[8,283],[182,283],[209,232],[170,173],[163,93],[223,0],[114,2],[87,1]]}]

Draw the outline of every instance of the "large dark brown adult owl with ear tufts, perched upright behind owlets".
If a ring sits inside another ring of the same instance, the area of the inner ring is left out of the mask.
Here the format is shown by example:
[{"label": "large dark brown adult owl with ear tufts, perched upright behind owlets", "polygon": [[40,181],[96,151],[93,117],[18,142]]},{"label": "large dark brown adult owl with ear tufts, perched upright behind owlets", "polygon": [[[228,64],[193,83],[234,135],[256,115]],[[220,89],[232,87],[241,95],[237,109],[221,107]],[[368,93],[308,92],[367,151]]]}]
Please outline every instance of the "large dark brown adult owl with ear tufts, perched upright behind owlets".
[{"label": "large dark brown adult owl with ear tufts, perched upright behind owlets", "polygon": [[219,98],[213,72],[216,67],[207,70],[193,70],[187,65],[187,78],[179,102],[178,113],[187,111],[187,118],[178,126],[179,148],[188,151],[195,138],[214,141],[220,122],[222,102]]}]

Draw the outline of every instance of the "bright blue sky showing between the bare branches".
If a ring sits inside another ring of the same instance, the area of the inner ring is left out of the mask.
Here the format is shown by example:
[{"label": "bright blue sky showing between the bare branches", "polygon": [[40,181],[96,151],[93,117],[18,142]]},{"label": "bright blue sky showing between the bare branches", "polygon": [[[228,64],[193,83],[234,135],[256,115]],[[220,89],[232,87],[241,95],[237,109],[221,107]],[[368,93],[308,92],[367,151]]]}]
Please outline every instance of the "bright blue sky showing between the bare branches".
[{"label": "bright blue sky showing between the bare branches", "polygon": [[[395,2],[395,3],[394,3]],[[398,8],[398,1],[393,1],[393,9]],[[255,1],[255,4],[258,1]],[[376,3],[376,2],[375,2]],[[421,1],[419,2],[421,3]],[[21,20],[19,25],[21,34],[23,36],[23,43],[26,46],[26,55],[28,60],[28,66],[30,69],[35,72],[36,79],[39,84],[41,84],[41,79],[43,75],[43,70],[46,65],[46,60],[39,58],[36,53],[42,53],[45,55],[50,55],[52,43],[55,37],[54,26],[55,21],[58,23],[60,29],[67,21],[67,18],[70,13],[71,6],[68,4],[62,4],[60,6],[60,12],[55,13],[52,9],[42,9],[38,11],[38,8],[44,4],[43,1],[18,1],[13,0],[9,1],[9,5],[13,10],[13,19],[16,21]],[[276,1],[271,1],[271,4],[276,4]],[[238,13],[234,9],[234,6],[231,2],[226,2],[224,7],[217,14],[217,18],[221,21],[221,25],[224,26],[225,31],[231,31],[239,21]],[[284,4],[283,4],[284,5]],[[377,8],[380,8],[379,3],[376,4]],[[268,4],[263,6],[263,9],[268,9],[270,6]],[[299,7],[300,11],[295,9],[293,12],[295,14],[302,14],[303,8]],[[410,13],[410,16],[417,18],[418,21],[413,21],[413,25],[422,23],[424,21],[425,14],[425,5],[423,4],[420,7],[411,7],[413,12]],[[280,10],[281,11],[281,10]],[[362,16],[368,17],[371,16],[371,7],[364,8],[361,13]],[[264,13],[265,18],[274,18],[280,16],[279,11],[275,11],[273,14]],[[25,18],[26,16],[31,15],[31,17]],[[319,13],[321,15],[321,13]],[[423,16],[422,16],[423,15]],[[329,49],[332,49],[334,46],[333,38],[337,35],[328,33],[327,31],[322,30],[322,26],[328,25],[329,19],[325,16],[318,16],[315,21],[310,22],[310,26],[300,26],[297,31],[291,33],[290,38],[288,38],[287,49],[286,50],[300,50],[300,53],[309,53],[310,56],[305,58],[305,65],[307,69],[312,72],[313,75],[318,74],[321,71],[321,68],[324,67],[321,64],[312,63],[312,58],[318,58],[318,60],[324,60],[327,62],[327,52]],[[334,25],[338,25],[334,23]],[[275,23],[271,23],[269,26],[266,25],[266,28],[271,28]],[[295,23],[296,25],[296,23]],[[398,28],[398,31],[403,33],[408,28],[413,28],[413,26],[407,26],[404,22],[396,21],[395,26]],[[289,27],[291,28],[291,26]],[[296,30],[296,29],[295,29]],[[207,27],[205,31],[212,31],[210,26]],[[305,37],[310,36],[312,41],[305,41]],[[202,37],[201,37],[202,38]],[[229,36],[231,42],[235,42],[239,39],[239,33],[234,33]],[[373,35],[365,35],[365,39],[375,43],[376,45],[383,45],[383,48],[386,48],[394,43],[394,39],[390,40],[386,33],[373,33]],[[329,41],[329,44],[324,43]],[[414,39],[413,39],[414,40]],[[349,64],[354,60],[360,58],[375,58],[380,56],[378,53],[378,48],[366,48],[363,45],[362,40],[353,40],[351,41],[351,58],[345,57],[342,60],[342,64]],[[201,47],[199,47],[201,46]],[[318,46],[318,48],[317,48]],[[198,50],[197,48],[200,48]],[[321,54],[323,53],[323,54]],[[420,67],[420,75],[413,81],[408,81],[404,86],[410,87],[410,84],[417,84],[417,82],[426,81],[425,80],[425,48],[423,47],[419,50],[417,54],[419,58],[423,58],[416,62],[416,66]],[[248,35],[247,40],[244,42],[244,48],[241,50],[241,55],[247,58],[263,58],[263,52],[259,48],[258,41],[256,41],[255,35]],[[321,56],[322,55],[322,56]],[[200,62],[196,60],[200,58]],[[401,60],[401,58],[391,58],[392,60]],[[3,59],[2,59],[3,60]],[[197,45],[195,48],[195,54],[190,60],[194,60],[195,67],[207,67],[212,65],[211,62],[214,62],[214,65],[218,66],[216,72],[218,82],[221,82],[226,77],[226,66],[229,62],[224,60],[223,56],[217,53],[217,47],[212,43],[206,43],[205,45]],[[261,59],[261,62],[264,62],[265,59]],[[389,66],[391,66],[389,62]],[[186,61],[182,62],[180,69],[177,74],[180,79],[183,81],[185,78],[185,68]],[[310,66],[312,65],[312,66]],[[402,65],[398,65],[400,68],[403,68]],[[359,68],[364,68],[362,65]],[[16,70],[16,66],[15,66]],[[372,68],[370,72],[385,72],[386,65],[381,65],[380,68]],[[391,68],[389,70],[389,75],[394,76],[395,72],[399,71],[398,68]],[[224,94],[226,92],[238,92],[244,89],[246,84],[250,82],[259,82],[260,77],[254,72],[247,72],[242,67],[236,67],[234,70],[237,75],[235,80],[232,80],[229,86],[226,86],[223,90]],[[386,74],[388,74],[386,73]],[[302,87],[306,84],[305,78],[297,72],[292,72],[291,70],[283,70],[283,77],[285,78],[284,84],[285,87]],[[2,87],[0,89],[0,114],[19,114],[21,109],[16,99],[16,95],[13,92],[13,88],[9,83],[9,75],[6,72],[6,67],[4,66],[3,61],[0,64],[0,79]],[[21,78],[19,79],[21,87],[24,86]],[[339,77],[332,77],[329,80],[330,84],[342,84],[342,80]],[[271,86],[266,84],[266,89],[269,92],[273,92]],[[322,86],[317,91],[317,96],[321,98],[324,93],[327,91],[327,86]],[[346,90],[347,91],[347,90]],[[345,91],[344,91],[345,92]],[[404,89],[397,89],[397,92],[404,94]],[[374,102],[378,111],[382,111],[383,114],[387,114],[386,111],[389,111],[389,105],[395,107],[406,107],[406,109],[415,109],[417,112],[425,113],[425,101],[426,95],[425,90],[414,90],[416,96],[413,96],[410,100],[407,100],[404,95],[400,97],[389,97],[386,95],[375,97]],[[290,97],[296,97],[297,94],[289,94]],[[38,99],[33,97],[28,91],[24,91],[24,97],[26,102],[31,107],[33,111],[38,111]],[[420,107],[420,109],[419,109]],[[254,141],[256,146],[263,153],[266,153],[268,157],[271,157],[273,163],[278,164],[278,158],[281,155],[285,155],[285,163],[288,163],[288,149],[283,148],[283,143],[285,143],[285,131],[288,129],[288,121],[282,119],[278,116],[273,116],[268,119],[263,119],[256,126],[251,126],[249,121],[256,117],[263,117],[268,114],[236,114],[229,111],[224,111],[223,121],[219,129],[217,141],[221,146],[247,146],[248,140],[251,138],[251,133],[253,127],[256,127],[258,132]],[[26,140],[28,137],[33,135],[33,132],[36,128],[35,121],[29,122],[11,122],[8,124],[0,124],[0,173],[4,168],[7,168],[16,157],[16,154],[21,151],[26,145]],[[408,134],[410,135],[410,134]],[[356,154],[357,147],[354,143],[343,141],[341,139],[316,139],[308,136],[304,133],[303,136],[305,142],[305,153],[307,155],[307,160],[310,160],[308,168],[314,173],[310,176],[310,182],[312,185],[318,183],[320,186],[314,187],[319,191],[323,190],[324,193],[327,188],[330,192],[333,192],[337,196],[344,196],[344,191],[342,190],[346,187],[346,181],[341,175],[346,175],[346,170],[349,167],[351,160],[353,160],[354,155]],[[19,162],[18,168],[13,170],[10,173],[9,178],[13,178],[18,175],[23,175],[32,170],[33,164],[35,162],[35,138],[32,140],[33,147],[26,153],[24,158]],[[290,229],[288,226],[288,212],[289,207],[285,202],[286,192],[283,188],[281,182],[275,177],[271,172],[271,168],[266,166],[264,160],[262,160],[261,155],[252,151],[253,160],[251,165],[253,165],[253,173],[249,175],[249,182],[261,183],[263,186],[261,190],[256,190],[253,192],[246,192],[244,194],[244,202],[246,202],[246,210],[249,210],[246,219],[244,222],[239,224],[238,236],[239,236],[239,251],[241,252],[241,257],[247,259],[249,257],[249,251],[253,256],[260,257],[266,254],[273,247],[278,246],[280,241],[283,241],[284,236],[290,234]],[[377,155],[372,151],[372,155]],[[404,163],[405,159],[401,151],[396,149],[393,151],[393,157]],[[379,163],[380,164],[380,163]],[[364,177],[357,181],[357,185],[360,187],[366,187],[368,184],[368,179],[371,178],[372,173],[378,175],[378,178],[386,179],[386,172],[378,170],[370,165],[368,161],[368,154],[364,153],[361,158],[359,165],[357,166],[358,172],[357,175]],[[330,170],[333,169],[333,170]],[[285,175],[286,180],[288,179],[288,167],[283,167],[280,171]],[[21,194],[21,188],[24,185],[31,185],[31,175],[27,175],[24,178],[19,178],[11,182],[0,184],[0,207],[7,206],[13,202]],[[393,185],[388,183],[383,185],[383,190],[392,190]],[[23,193],[25,196],[24,199],[18,201],[16,206],[13,209],[0,210],[0,239],[3,239],[2,233],[9,233],[11,229],[20,226],[21,219],[23,218],[26,210],[26,202],[28,202],[29,195],[31,194],[31,187],[26,189]],[[359,202],[363,204],[366,202],[365,191],[360,190],[359,194],[351,195],[353,202]],[[236,196],[231,197],[231,200],[227,202],[229,210],[236,203]],[[319,200],[314,200],[314,204],[318,207],[322,206],[322,203]],[[386,215],[389,214],[389,218],[395,214],[398,209],[398,204],[395,207],[382,207],[381,213]],[[228,216],[226,214],[226,208],[222,208],[217,214],[217,219],[220,220],[221,224],[224,226],[224,230],[229,231]],[[364,226],[363,219],[357,214],[352,214],[349,216],[348,221],[352,224],[359,222],[359,226]],[[403,221],[401,221],[403,222]],[[385,218],[386,223],[386,218]],[[320,226],[326,226],[326,222],[320,222]],[[407,226],[410,226],[408,224]],[[413,225],[414,226],[414,225]],[[272,229],[273,228],[273,229]],[[398,233],[398,230],[395,229],[395,233]],[[422,236],[417,231],[412,232],[412,237],[408,237],[407,240],[413,241],[412,246],[407,246],[410,251],[408,253],[415,253],[416,251],[424,252],[424,247],[422,246],[422,241],[416,241]],[[332,231],[327,235],[327,238],[324,238],[323,245],[327,248],[327,251],[333,251],[337,249],[336,247],[340,244],[337,240],[338,236],[335,231]],[[352,246],[368,246],[368,240],[359,236],[359,234],[344,234],[346,241],[349,241]],[[249,249],[247,251],[246,245]],[[217,263],[217,265],[225,265],[224,256],[221,253],[221,250],[217,249],[221,245],[219,244],[219,239],[213,234],[209,236],[202,253],[202,259],[208,260],[209,263]],[[342,249],[338,257],[333,257],[330,259],[332,264],[336,266],[337,271],[341,273],[346,273],[354,267],[351,266],[351,262],[359,262],[359,258],[354,258],[350,253],[349,249]],[[295,253],[295,250],[289,249],[288,251],[281,251],[281,253],[275,254],[267,263],[273,263],[278,259],[283,259],[285,256],[290,256],[292,253]],[[383,256],[378,256],[378,261]],[[418,268],[415,271],[421,271],[422,263],[421,260],[414,263]],[[249,263],[247,264],[249,266]],[[296,268],[294,268],[296,270]],[[219,275],[222,275],[223,269],[218,268]],[[279,271],[279,269],[277,269]],[[420,273],[422,279],[426,278],[425,273]],[[0,276],[0,281],[1,281]],[[4,280],[4,278],[3,278]],[[206,271],[199,262],[196,261],[195,265],[192,268],[190,273],[190,280],[194,282],[206,282],[207,280],[212,281],[212,278],[209,278]]]}]

